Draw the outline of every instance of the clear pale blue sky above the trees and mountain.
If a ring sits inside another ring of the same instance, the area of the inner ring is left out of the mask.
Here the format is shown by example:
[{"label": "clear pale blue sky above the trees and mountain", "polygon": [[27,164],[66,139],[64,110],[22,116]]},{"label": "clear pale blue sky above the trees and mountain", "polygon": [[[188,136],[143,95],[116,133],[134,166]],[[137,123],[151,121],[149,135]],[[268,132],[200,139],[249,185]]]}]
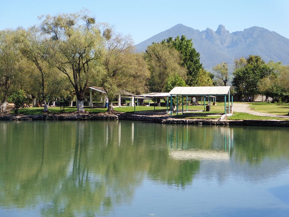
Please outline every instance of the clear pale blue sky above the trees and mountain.
[{"label": "clear pale blue sky above the trees and mountain", "polygon": [[130,34],[135,44],[176,24],[198,30],[216,31],[223,24],[230,33],[252,26],[264,27],[289,38],[289,1],[137,1],[137,0],[4,0],[1,3],[0,30],[39,24],[42,14],[72,13],[83,8],[99,22]]}]

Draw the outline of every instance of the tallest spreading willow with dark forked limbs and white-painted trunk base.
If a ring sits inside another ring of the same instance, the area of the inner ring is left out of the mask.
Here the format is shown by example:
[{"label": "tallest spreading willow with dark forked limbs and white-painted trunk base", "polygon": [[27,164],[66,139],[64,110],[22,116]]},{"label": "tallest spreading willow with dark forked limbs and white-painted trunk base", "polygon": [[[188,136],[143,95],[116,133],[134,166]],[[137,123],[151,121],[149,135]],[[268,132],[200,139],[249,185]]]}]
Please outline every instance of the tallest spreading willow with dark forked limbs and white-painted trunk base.
[{"label": "tallest spreading willow with dark forked limbs and white-painted trunk base", "polygon": [[47,15],[41,30],[49,37],[49,49],[43,58],[67,76],[78,100],[77,111],[85,112],[85,89],[96,73],[95,65],[102,51],[101,31],[95,18],[87,11]]}]

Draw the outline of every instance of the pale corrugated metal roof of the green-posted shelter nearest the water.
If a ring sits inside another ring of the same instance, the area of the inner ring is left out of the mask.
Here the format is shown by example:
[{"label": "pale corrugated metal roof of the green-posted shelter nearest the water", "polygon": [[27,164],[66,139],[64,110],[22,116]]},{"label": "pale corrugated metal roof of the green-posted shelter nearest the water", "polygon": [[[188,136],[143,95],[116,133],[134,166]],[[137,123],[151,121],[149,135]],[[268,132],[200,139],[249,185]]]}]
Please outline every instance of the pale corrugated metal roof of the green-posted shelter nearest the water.
[{"label": "pale corrugated metal roof of the green-posted shelter nearest the water", "polygon": [[233,95],[230,90],[231,86],[197,86],[197,87],[174,87],[169,94],[172,95],[201,95],[201,96],[224,96],[230,94]]}]

